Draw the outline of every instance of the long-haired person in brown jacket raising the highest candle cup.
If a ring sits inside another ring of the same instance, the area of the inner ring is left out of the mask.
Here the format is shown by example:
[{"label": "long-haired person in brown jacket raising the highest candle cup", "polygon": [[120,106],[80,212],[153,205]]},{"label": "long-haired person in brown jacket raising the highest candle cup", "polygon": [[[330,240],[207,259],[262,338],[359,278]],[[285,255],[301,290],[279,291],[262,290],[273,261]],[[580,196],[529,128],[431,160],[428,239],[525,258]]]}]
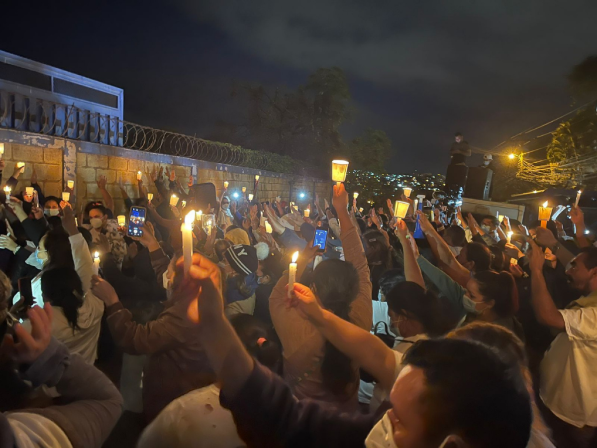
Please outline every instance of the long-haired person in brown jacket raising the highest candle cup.
[{"label": "long-haired person in brown jacket raising the highest candle cup", "polygon": [[[361,238],[348,213],[348,201],[344,185],[334,186],[333,204],[346,261],[323,260],[313,271],[310,283],[325,308],[369,331],[373,314],[370,272]],[[298,259],[297,281],[313,256],[315,251],[307,245]],[[288,309],[287,284],[288,274],[282,275],[270,296],[272,321],[284,348],[286,381],[297,398],[313,398],[344,410],[356,409],[358,369],[346,355],[322,340],[312,323],[296,310]]]}]

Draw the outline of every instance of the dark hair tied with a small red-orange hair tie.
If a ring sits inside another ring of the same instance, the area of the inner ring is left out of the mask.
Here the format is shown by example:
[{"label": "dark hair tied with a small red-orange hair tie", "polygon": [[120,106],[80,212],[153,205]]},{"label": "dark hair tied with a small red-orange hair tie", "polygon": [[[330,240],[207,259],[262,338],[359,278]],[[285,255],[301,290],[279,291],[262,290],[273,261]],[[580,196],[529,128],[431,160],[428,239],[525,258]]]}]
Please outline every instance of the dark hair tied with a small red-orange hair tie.
[{"label": "dark hair tied with a small red-orange hair tie", "polygon": [[266,324],[250,314],[235,314],[230,317],[230,324],[249,354],[272,372],[278,373],[282,349]]}]

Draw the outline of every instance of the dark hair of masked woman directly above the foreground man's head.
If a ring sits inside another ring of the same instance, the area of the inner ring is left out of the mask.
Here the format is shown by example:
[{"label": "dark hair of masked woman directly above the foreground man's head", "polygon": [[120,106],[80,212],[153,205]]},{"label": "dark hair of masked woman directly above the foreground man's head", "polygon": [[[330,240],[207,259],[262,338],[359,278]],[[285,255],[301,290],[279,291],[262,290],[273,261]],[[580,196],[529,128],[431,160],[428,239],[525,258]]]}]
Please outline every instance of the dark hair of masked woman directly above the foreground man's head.
[{"label": "dark hair of masked woman directly above the foreground man's head", "polygon": [[437,294],[423,289],[413,281],[398,283],[386,295],[389,309],[399,315],[418,321],[431,337],[442,336],[457,324],[457,318],[448,319]]}]

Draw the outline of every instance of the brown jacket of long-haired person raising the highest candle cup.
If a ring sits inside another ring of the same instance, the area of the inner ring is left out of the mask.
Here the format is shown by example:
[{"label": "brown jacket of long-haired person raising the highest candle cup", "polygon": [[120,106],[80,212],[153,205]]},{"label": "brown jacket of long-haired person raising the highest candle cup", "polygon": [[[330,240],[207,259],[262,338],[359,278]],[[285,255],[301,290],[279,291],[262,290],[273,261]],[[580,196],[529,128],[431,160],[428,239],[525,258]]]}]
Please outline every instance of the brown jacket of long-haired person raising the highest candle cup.
[{"label": "brown jacket of long-haired person raising the highest candle cup", "polygon": [[[344,248],[344,259],[355,266],[359,277],[358,293],[350,308],[350,321],[370,331],[373,320],[371,280],[367,257],[356,226],[342,229],[340,240]],[[343,396],[334,395],[324,388],[321,361],[324,358],[325,338],[312,323],[298,315],[295,308],[287,307],[285,302],[287,284],[288,273],[285,273],[274,287],[269,299],[273,326],[284,349],[284,379],[299,399],[312,398],[320,403],[331,404],[340,410],[356,410],[358,379]],[[358,366],[354,368],[356,370]]]}]

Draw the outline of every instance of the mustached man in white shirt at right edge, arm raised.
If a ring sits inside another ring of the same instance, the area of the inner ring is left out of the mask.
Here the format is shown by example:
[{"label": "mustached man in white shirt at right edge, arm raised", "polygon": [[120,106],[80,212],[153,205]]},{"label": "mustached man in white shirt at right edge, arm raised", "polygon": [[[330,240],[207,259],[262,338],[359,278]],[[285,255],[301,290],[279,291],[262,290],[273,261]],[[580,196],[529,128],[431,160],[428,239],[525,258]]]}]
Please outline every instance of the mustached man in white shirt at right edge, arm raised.
[{"label": "mustached man in white shirt at right edge, arm raised", "polygon": [[544,254],[531,243],[537,321],[559,332],[541,362],[540,396],[557,446],[597,446],[597,248],[584,248],[566,272],[583,296],[557,309],[543,278]]}]

